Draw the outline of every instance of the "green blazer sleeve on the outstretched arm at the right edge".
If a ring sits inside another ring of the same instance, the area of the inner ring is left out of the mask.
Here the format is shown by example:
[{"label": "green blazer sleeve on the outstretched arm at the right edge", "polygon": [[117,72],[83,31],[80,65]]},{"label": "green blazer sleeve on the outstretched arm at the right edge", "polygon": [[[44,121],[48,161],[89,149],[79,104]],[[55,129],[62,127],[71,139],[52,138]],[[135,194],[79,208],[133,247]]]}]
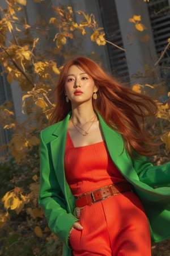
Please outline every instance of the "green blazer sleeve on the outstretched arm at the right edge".
[{"label": "green blazer sleeve on the outstretched arm at the right edge", "polygon": [[170,162],[154,166],[147,162],[145,156],[133,159],[133,167],[139,176],[139,180],[153,188],[170,186]]}]

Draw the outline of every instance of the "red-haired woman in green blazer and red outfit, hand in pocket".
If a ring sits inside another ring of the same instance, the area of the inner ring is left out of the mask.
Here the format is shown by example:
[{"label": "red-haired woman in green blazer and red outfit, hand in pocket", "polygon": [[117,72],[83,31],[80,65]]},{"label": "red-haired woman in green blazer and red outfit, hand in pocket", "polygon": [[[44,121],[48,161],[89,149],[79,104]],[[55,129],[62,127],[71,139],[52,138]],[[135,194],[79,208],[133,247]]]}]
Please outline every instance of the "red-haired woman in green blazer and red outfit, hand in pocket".
[{"label": "red-haired woman in green blazer and red outfit, hand in pocket", "polygon": [[170,163],[153,166],[150,98],[91,59],[62,69],[51,125],[41,131],[39,203],[63,255],[150,256],[170,236]]}]

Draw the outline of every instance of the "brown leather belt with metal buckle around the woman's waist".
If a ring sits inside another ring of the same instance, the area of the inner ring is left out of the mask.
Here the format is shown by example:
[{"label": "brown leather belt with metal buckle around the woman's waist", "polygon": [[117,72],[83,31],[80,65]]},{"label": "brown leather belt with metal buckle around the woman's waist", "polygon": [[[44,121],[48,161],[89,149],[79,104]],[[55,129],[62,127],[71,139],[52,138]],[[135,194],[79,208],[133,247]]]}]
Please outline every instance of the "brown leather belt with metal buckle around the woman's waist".
[{"label": "brown leather belt with metal buckle around the woman's waist", "polygon": [[76,208],[82,208],[85,205],[94,204],[101,200],[107,199],[110,196],[116,196],[120,193],[131,191],[130,185],[127,181],[114,183],[107,187],[99,188],[95,191],[83,194],[75,201]]}]

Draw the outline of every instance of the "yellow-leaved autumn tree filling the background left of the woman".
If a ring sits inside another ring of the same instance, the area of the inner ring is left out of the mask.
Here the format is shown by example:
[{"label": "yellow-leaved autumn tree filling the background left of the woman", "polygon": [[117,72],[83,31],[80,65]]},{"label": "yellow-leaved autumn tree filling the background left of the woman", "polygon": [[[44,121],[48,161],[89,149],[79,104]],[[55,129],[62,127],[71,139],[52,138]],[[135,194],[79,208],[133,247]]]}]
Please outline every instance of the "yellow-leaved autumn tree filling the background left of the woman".
[{"label": "yellow-leaved autumn tree filling the background left of the woman", "polygon": [[[84,37],[88,32],[89,40],[98,46],[104,46],[106,42],[103,28],[98,27],[93,14],[85,14],[81,10],[73,13],[71,6],[51,6],[53,16],[49,20],[41,18],[31,25],[26,18],[26,0],[4,2],[6,8],[0,7],[1,75],[6,76],[9,84],[16,81],[22,90],[22,112],[25,117],[24,121],[18,121],[11,102],[4,102],[0,106],[1,125],[10,131],[11,137],[9,143],[1,147],[1,150],[7,149],[8,153],[7,162],[1,162],[0,168],[11,175],[11,185],[8,186],[10,190],[1,195],[6,212],[0,212],[1,237],[4,237],[0,254],[25,255],[26,251],[27,255],[37,255],[41,250],[41,253],[44,251],[41,255],[47,255],[49,245],[50,250],[54,246],[55,251],[60,246],[57,238],[50,233],[44,214],[37,204],[39,133],[47,125],[54,107],[50,93],[63,61],[75,53],[71,42],[78,40],[76,36]],[[41,5],[45,1],[35,2]],[[79,23],[75,15],[79,15]],[[50,47],[44,45],[44,38],[49,38]],[[13,237],[11,243],[7,234]],[[41,246],[39,238],[42,240]],[[22,246],[16,250],[15,243],[22,243]],[[14,246],[9,246],[5,253],[5,248],[11,244]]]}]

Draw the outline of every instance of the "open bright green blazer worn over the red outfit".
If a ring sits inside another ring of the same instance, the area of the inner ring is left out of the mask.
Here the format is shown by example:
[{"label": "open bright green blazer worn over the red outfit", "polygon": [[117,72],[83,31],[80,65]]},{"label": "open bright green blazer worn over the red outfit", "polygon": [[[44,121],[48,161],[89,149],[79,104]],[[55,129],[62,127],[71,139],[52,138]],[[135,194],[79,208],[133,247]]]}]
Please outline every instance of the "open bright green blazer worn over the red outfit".
[{"label": "open bright green blazer worn over the red outfit", "polygon": [[[63,241],[63,255],[71,255],[68,245],[69,230],[78,219],[74,216],[75,199],[67,184],[64,155],[67,125],[65,119],[41,131],[40,136],[40,194],[39,204],[44,209],[49,228]],[[170,162],[153,166],[144,156],[131,159],[124,150],[124,141],[99,114],[101,129],[113,162],[133,186],[141,199],[150,222],[155,242],[170,237]]]}]

